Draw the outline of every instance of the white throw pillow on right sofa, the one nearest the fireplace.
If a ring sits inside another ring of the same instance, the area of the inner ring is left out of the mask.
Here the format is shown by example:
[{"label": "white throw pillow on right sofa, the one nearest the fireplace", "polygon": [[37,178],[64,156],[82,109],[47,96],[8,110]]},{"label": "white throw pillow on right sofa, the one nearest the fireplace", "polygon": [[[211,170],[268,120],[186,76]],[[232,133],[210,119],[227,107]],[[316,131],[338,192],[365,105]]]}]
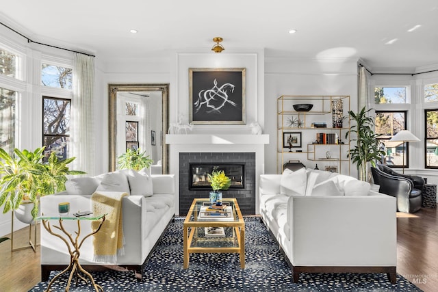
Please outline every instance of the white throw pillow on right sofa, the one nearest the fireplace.
[{"label": "white throw pillow on right sofa, the one nearest the fireplace", "polygon": [[286,168],[281,175],[280,193],[287,196],[305,196],[307,174],[305,168],[292,171]]}]

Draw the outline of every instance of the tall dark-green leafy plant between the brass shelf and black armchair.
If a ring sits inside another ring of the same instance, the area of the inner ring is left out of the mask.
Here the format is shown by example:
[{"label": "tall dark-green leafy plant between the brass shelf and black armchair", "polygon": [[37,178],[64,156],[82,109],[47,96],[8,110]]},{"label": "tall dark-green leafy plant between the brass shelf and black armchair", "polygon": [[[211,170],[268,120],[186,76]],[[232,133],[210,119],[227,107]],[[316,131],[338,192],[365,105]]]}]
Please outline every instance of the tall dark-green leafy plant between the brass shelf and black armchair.
[{"label": "tall dark-green leafy plant between the brass shelf and black armchair", "polygon": [[[348,111],[350,121],[355,123],[345,137],[346,139],[350,137],[350,141],[356,142],[355,147],[348,150],[348,157],[356,164],[361,181],[369,181],[368,164],[376,166],[376,161],[381,159],[381,155],[385,155],[385,151],[381,150],[376,139],[378,134],[374,133],[374,119],[368,116],[370,110],[367,111],[363,107],[359,113]],[[353,133],[355,135],[352,135]]]}]

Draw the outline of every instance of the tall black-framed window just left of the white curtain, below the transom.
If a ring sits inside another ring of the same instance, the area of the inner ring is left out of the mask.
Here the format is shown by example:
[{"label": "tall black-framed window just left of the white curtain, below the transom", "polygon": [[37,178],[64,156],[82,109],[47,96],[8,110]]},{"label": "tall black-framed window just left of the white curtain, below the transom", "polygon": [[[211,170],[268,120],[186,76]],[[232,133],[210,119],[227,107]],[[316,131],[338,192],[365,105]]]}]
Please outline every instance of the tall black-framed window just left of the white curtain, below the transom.
[{"label": "tall black-framed window just left of the white curtain, below the transom", "polygon": [[70,103],[69,99],[42,96],[42,141],[45,150],[44,162],[56,152],[58,159],[69,157],[70,149]]}]

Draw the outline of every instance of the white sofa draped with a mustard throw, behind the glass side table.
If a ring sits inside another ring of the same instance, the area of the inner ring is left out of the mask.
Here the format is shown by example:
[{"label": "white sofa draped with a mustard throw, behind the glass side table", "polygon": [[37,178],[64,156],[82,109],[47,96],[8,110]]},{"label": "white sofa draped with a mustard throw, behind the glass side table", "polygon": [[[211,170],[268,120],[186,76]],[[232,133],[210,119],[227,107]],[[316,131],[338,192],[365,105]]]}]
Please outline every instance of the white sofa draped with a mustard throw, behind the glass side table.
[{"label": "white sofa draped with a mustard throw, behind the glass side table", "polygon": [[[66,191],[40,200],[42,215],[57,214],[60,202],[70,202],[70,215],[92,208],[94,191],[127,192],[122,199],[125,254],[118,255],[116,263],[96,263],[93,260],[92,238],[86,239],[80,249],[80,263],[88,269],[107,267],[133,269],[142,278],[143,266],[168,224],[175,216],[175,176],[123,170],[99,176],[73,178],[66,182]],[[57,225],[57,220],[50,220]],[[75,236],[77,222],[64,220],[64,226]],[[81,237],[91,232],[91,223],[81,221]],[[105,224],[105,222],[104,222]],[[47,280],[51,270],[60,270],[70,263],[65,243],[49,234],[41,224],[41,278]]]}]

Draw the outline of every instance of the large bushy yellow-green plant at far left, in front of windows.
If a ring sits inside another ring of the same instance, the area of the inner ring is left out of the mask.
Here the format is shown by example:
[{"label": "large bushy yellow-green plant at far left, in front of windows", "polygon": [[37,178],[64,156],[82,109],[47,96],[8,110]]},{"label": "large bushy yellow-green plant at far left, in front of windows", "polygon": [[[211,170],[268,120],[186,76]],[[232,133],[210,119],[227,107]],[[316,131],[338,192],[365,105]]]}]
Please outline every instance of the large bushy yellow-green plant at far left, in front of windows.
[{"label": "large bushy yellow-green plant at far left, in front of windows", "polygon": [[[73,161],[71,157],[59,161],[52,152],[47,164],[42,163],[44,147],[29,150],[14,149],[14,154],[9,155],[0,148],[0,207],[3,213],[18,208],[30,209],[31,220],[38,215],[38,198],[54,194],[65,189],[66,175],[85,174],[77,170],[68,170],[66,166]],[[29,212],[23,211],[23,216]],[[24,218],[24,217],[23,217]],[[18,217],[18,219],[21,219]],[[22,220],[23,221],[23,220]],[[25,223],[28,220],[24,220]]]}]

